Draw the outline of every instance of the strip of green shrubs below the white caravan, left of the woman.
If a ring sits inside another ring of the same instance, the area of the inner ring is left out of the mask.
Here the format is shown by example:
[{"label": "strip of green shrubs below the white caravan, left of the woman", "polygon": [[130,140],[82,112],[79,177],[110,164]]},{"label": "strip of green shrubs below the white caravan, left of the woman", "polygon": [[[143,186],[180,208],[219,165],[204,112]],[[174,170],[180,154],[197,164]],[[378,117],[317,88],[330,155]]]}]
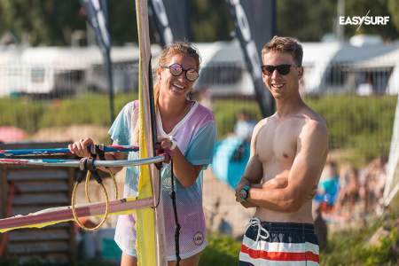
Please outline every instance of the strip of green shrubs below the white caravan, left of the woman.
[{"label": "strip of green shrubs below the white caravan, left of the woman", "polygon": [[[136,94],[115,97],[115,115],[122,106],[136,99]],[[0,98],[0,125],[14,126],[29,133],[49,127],[74,124],[110,126],[109,102],[106,94],[82,94],[63,100]]]}]

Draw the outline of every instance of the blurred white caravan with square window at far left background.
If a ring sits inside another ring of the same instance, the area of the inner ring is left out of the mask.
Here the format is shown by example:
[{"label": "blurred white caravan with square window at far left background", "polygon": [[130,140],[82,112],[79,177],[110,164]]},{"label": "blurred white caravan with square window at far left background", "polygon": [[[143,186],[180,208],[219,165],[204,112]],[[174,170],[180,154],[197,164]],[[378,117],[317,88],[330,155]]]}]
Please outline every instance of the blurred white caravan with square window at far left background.
[{"label": "blurred white caravan with square window at far left background", "polygon": [[[137,61],[138,47],[113,47],[111,59],[113,64]],[[79,90],[92,68],[102,64],[97,46],[1,47],[0,96],[12,92],[50,93],[58,87]]]}]

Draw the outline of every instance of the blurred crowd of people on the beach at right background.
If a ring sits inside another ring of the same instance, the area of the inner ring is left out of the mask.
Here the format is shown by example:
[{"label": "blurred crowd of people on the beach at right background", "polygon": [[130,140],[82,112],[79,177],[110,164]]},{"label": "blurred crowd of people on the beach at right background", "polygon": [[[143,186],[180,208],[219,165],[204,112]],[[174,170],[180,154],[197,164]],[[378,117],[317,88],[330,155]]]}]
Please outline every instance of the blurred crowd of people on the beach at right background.
[{"label": "blurred crowd of people on the beach at right background", "polygon": [[364,168],[344,165],[339,169],[335,161],[328,160],[314,199],[322,214],[349,220],[379,212],[387,177],[386,163],[385,158],[378,157]]}]

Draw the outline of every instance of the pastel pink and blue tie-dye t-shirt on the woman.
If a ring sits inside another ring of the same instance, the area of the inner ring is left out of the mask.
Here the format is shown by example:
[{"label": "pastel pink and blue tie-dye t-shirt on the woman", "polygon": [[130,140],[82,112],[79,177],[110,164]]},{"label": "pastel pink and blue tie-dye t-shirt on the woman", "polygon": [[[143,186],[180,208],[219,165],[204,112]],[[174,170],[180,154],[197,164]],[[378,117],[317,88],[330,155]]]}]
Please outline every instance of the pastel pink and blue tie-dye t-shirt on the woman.
[{"label": "pastel pink and blue tie-dye t-shirt on the woman", "polygon": [[[137,101],[123,107],[109,135],[113,143],[131,145],[131,114],[137,108]],[[135,126],[135,125],[134,125]],[[163,130],[160,114],[157,113],[158,137],[173,136],[179,150],[192,165],[211,163],[215,145],[215,120],[213,114],[204,106],[193,102],[191,110],[179,121],[168,134]],[[137,153],[129,153],[129,160],[137,159]],[[124,196],[137,195],[138,168],[127,168]],[[176,208],[180,230],[180,257],[182,259],[200,253],[206,242],[205,217],[202,209],[202,171],[196,182],[188,188],[175,178]],[[165,217],[166,254],[168,261],[176,261],[175,252],[175,216],[173,213],[171,192],[170,164],[163,164],[161,170],[162,200]],[[120,215],[115,231],[115,241],[125,254],[136,256],[136,231],[134,215]]]}]

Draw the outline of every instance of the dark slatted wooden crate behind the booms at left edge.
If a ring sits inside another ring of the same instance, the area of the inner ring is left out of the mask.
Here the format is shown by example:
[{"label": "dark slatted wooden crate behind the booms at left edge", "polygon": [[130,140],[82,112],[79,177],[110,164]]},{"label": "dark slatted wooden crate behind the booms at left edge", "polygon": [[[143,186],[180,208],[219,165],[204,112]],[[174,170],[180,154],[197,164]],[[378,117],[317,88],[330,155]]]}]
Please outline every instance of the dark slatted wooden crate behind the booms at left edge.
[{"label": "dark slatted wooden crate behind the booms at left edge", "polygon": [[[0,149],[62,148],[67,143],[32,143],[0,145]],[[54,158],[54,157],[52,157]],[[72,159],[71,156],[56,157]],[[47,207],[70,204],[75,168],[6,166],[0,168],[0,215],[27,215]],[[14,187],[13,200],[11,196]],[[11,202],[12,200],[12,202]],[[20,262],[39,259],[73,262],[75,255],[74,223],[59,223],[42,229],[8,232],[4,256]]]}]

